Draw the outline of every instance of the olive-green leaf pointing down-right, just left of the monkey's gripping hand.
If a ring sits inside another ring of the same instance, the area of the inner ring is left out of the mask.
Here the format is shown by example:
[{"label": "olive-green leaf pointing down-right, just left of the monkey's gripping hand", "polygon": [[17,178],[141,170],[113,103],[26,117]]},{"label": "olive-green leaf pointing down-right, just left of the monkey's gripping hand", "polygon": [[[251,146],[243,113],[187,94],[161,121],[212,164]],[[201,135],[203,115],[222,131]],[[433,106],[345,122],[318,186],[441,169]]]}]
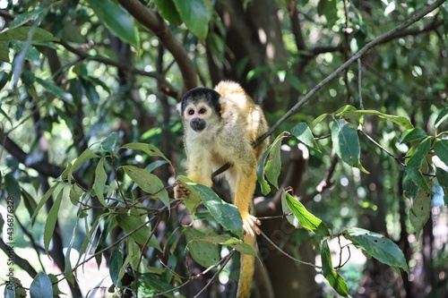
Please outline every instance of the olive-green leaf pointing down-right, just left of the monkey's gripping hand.
[{"label": "olive-green leaf pointing down-right, just left of the monkey's gripping hand", "polygon": [[137,166],[121,167],[125,170],[126,175],[131,177],[134,183],[137,183],[144,192],[148,192],[149,194],[157,193],[157,197],[155,198],[160,199],[165,206],[169,206],[168,192],[157,175],[153,175]]}]

